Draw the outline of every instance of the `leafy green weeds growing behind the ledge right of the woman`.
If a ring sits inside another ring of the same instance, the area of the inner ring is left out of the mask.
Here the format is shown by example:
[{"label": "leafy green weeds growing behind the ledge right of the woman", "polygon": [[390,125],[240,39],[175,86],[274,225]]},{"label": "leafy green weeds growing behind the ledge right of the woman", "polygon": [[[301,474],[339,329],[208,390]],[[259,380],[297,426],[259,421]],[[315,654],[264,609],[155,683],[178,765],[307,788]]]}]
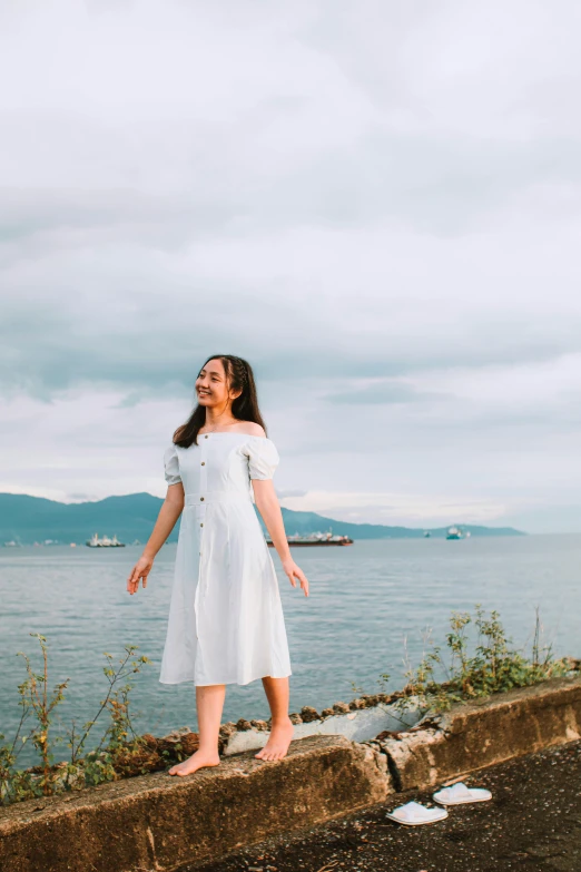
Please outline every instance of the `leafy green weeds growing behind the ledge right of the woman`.
[{"label": "leafy green weeds growing behind the ledge right of the woman", "polygon": [[[470,654],[469,627],[476,628],[474,653]],[[532,658],[511,647],[499,613],[489,616],[482,606],[475,606],[474,617],[467,611],[453,611],[446,635],[449,663],[442,649],[430,641],[420,665],[407,665],[406,685],[395,706],[404,711],[414,702],[425,711],[446,711],[453,703],[488,697],[493,693],[525,687],[571,672],[569,658],[554,659],[552,646],[540,648],[541,624],[539,609],[533,637]]]}]

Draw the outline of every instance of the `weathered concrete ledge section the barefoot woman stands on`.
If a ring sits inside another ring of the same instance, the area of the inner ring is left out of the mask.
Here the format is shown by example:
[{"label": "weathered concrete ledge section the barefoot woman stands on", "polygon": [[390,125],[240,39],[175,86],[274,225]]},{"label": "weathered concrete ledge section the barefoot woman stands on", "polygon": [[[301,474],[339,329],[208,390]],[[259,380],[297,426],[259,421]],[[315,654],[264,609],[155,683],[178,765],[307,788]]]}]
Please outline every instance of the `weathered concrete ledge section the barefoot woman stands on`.
[{"label": "weathered concrete ledge section the barefoot woman stands on", "polygon": [[342,736],[309,737],[276,763],[246,753],[191,777],[156,772],[9,806],[0,811],[0,869],[167,872],[391,792],[384,755]]}]

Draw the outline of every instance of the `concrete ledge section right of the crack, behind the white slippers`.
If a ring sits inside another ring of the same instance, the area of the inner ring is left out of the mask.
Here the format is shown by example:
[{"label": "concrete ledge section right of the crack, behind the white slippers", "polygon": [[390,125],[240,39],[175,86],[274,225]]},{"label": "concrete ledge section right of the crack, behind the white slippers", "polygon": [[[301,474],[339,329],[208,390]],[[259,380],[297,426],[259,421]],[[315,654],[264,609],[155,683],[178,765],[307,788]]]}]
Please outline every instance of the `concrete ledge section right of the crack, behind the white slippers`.
[{"label": "concrete ledge section right of the crack, behind the white slippers", "polygon": [[368,744],[386,754],[395,788],[407,791],[580,737],[581,678],[572,677],[455,705]]}]

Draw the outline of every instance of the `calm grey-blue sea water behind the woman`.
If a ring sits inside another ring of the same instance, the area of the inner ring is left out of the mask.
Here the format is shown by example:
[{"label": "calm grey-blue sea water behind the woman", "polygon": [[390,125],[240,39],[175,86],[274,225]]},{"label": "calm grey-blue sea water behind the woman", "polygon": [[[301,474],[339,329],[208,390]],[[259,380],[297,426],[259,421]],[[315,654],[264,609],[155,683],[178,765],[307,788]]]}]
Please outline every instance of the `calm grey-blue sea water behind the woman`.
[{"label": "calm grey-blue sea water behind the woman", "polygon": [[[30,633],[47,638],[49,690],[70,679],[55,711],[55,734],[72,717],[78,726],[95,717],[108,689],[104,651],[118,662],[129,645],[152,660],[131,676],[136,732],[196,729],[194,686],[159,683],[176,546],[164,546],[147,589],[130,596],[127,577],[140,551],[139,546],[0,549],[0,733],[7,738],[21,714],[18,685],[26,668],[18,651],[30,657],[35,672],[42,670],[40,645]],[[388,689],[402,686],[406,662],[417,665],[427,638],[444,646],[451,613],[473,611],[476,602],[496,609],[514,645],[526,651],[539,608],[542,644],[558,656],[581,657],[581,535],[294,548],[311,582],[308,598],[290,586],[272,555],[290,648],[290,711],[348,702],[357,695],[353,686],[377,692],[385,673]],[[239,717],[268,717],[260,682],[228,686],[223,719]],[[96,738],[106,725],[97,723]],[[57,760],[67,756],[61,747]],[[19,760],[36,762],[32,749]]]}]

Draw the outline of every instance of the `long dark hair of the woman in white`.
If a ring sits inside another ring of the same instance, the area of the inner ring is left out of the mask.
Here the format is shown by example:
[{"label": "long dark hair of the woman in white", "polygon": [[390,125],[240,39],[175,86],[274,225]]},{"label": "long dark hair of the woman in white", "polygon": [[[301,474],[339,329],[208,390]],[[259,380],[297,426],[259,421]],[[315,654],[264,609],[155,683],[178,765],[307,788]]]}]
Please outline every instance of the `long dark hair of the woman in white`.
[{"label": "long dark hair of the woman in white", "polygon": [[[260,424],[266,433],[266,424],[258,409],[258,395],[253,368],[248,361],[245,361],[243,357],[235,357],[233,354],[210,354],[209,357],[206,357],[204,365],[199,368],[198,372],[201,372],[206,363],[214,360],[221,361],[228,388],[233,391],[242,390],[240,395],[233,400],[233,415],[239,421],[254,421],[256,424]],[[178,427],[175,431],[174,443],[180,448],[189,448],[194,442],[197,445],[198,431],[205,423],[206,408],[197,403],[186,423]]]}]

